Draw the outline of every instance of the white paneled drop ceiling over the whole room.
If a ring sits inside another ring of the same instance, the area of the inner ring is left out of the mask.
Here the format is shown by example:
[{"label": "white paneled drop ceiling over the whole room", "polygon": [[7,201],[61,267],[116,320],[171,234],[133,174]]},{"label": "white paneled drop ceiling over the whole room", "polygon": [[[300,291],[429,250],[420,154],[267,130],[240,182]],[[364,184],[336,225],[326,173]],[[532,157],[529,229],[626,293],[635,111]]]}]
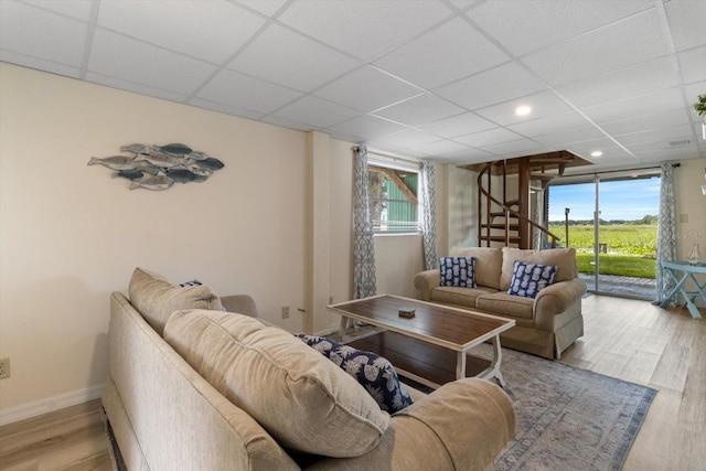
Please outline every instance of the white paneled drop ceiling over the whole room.
[{"label": "white paneled drop ceiling over the whole room", "polygon": [[706,0],[0,0],[0,60],[438,162],[632,169],[706,157],[705,24]]}]

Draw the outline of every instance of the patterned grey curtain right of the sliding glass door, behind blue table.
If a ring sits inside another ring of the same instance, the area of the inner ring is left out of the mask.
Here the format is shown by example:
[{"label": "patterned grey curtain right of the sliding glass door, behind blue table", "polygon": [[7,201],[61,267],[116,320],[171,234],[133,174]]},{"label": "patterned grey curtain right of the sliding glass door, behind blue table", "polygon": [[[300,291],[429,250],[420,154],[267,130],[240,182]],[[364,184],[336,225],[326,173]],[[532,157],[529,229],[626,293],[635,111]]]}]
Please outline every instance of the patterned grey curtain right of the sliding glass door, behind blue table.
[{"label": "patterned grey curtain right of the sliding glass door, behind blue table", "polygon": [[674,289],[672,277],[660,266],[662,260],[676,260],[676,220],[674,207],[674,175],[671,163],[662,164],[660,179],[660,215],[657,221],[657,271],[656,301],[664,299]]}]

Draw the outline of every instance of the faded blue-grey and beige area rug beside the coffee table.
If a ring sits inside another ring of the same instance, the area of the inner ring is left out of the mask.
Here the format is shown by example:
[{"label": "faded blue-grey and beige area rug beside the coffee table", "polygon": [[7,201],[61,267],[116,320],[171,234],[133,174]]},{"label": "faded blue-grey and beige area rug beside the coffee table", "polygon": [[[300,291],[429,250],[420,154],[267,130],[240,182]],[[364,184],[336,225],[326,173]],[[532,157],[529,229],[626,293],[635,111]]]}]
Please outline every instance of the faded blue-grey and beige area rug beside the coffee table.
[{"label": "faded blue-grey and beige area rug beside the coffee table", "polygon": [[[483,344],[473,352],[491,357],[491,349]],[[515,406],[517,427],[495,461],[496,471],[622,468],[655,389],[502,351],[501,371],[505,392]]]}]

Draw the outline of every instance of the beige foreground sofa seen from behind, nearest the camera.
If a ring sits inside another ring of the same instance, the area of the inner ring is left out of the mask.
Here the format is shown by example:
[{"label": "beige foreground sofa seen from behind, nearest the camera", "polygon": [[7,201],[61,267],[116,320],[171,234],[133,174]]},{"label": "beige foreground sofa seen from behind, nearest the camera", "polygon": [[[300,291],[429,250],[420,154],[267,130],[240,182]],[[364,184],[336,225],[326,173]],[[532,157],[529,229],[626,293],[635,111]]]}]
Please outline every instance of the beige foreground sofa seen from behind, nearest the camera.
[{"label": "beige foreground sofa seen from behind, nearest the camera", "polygon": [[136,269],[110,297],[103,404],[129,470],[478,470],[514,433],[507,395],[477,378],[388,415],[353,376],[255,314]]}]

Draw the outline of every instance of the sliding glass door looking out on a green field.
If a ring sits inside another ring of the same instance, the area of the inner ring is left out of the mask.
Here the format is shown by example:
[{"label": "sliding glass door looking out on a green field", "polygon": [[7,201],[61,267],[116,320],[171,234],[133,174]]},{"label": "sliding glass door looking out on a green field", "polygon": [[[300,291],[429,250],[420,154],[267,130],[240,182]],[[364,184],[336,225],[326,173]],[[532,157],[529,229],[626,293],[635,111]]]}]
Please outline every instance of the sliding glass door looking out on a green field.
[{"label": "sliding glass door looking out on a green field", "polygon": [[590,291],[654,299],[660,179],[591,175],[549,186],[549,229]]}]

